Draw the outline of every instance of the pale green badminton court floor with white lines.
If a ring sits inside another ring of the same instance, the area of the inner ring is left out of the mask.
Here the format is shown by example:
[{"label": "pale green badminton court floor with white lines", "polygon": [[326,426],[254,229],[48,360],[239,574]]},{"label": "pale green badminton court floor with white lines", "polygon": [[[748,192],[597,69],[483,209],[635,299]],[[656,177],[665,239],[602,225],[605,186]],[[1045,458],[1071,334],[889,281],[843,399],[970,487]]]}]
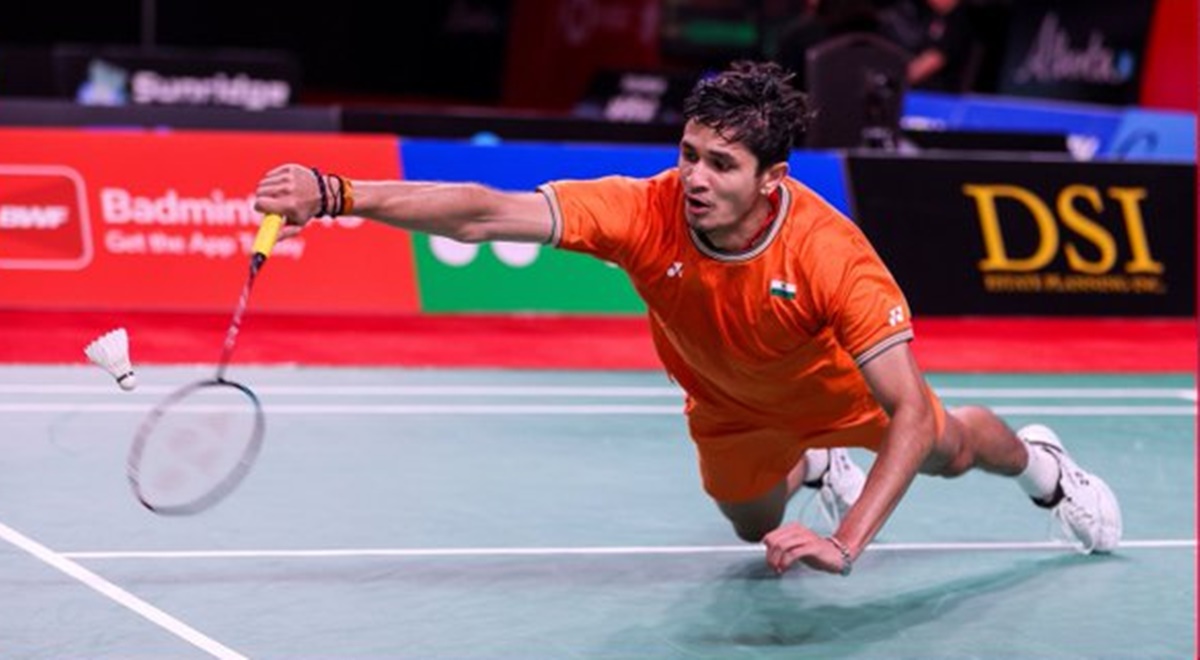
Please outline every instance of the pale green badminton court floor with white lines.
[{"label": "pale green badminton court floor with white lines", "polygon": [[1189,376],[931,376],[1054,426],[1126,542],[1084,557],[1010,481],[920,478],[847,578],[737,541],[650,372],[235,366],[266,408],[254,472],[157,517],[125,452],[204,376],[0,367],[0,658],[1195,656]]}]

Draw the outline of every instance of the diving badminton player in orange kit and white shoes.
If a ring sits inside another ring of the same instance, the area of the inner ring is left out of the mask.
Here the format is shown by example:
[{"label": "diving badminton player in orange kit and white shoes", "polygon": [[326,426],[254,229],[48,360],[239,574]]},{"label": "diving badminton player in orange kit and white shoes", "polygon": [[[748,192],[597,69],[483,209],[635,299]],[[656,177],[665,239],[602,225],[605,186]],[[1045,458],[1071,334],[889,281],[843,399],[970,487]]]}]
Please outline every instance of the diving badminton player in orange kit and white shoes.
[{"label": "diving badminton player in orange kit and white shoes", "polygon": [[[353,212],[460,241],[528,241],[624,269],[654,344],[686,392],[703,487],[779,572],[848,575],[918,473],[1012,479],[1084,552],[1109,552],[1121,512],[1103,480],[1040,425],[943,408],[913,359],[908,305],[853,222],[788,175],[809,107],[774,64],[737,62],[685,103],[678,164],[635,179],[365,181],[308,164],[264,175],[254,206],[293,230]],[[876,452],[870,472],[848,446]],[[840,514],[828,535],[785,522],[804,486]]]}]

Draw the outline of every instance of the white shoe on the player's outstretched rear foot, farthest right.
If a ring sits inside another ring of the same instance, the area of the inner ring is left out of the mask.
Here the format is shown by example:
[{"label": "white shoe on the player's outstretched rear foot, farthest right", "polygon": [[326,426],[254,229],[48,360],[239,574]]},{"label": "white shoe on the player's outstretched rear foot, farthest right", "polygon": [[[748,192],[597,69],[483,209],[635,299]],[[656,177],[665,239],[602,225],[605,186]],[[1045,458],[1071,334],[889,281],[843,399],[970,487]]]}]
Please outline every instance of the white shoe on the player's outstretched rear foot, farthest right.
[{"label": "white shoe on the player's outstretched rear foot, farthest right", "polygon": [[[1121,542],[1121,506],[1103,479],[1079,467],[1049,427],[1032,424],[1016,432],[1032,449],[1050,452],[1058,462],[1062,498],[1051,514],[1085,554],[1112,552]],[[1048,508],[1037,500],[1036,504]]]}]

